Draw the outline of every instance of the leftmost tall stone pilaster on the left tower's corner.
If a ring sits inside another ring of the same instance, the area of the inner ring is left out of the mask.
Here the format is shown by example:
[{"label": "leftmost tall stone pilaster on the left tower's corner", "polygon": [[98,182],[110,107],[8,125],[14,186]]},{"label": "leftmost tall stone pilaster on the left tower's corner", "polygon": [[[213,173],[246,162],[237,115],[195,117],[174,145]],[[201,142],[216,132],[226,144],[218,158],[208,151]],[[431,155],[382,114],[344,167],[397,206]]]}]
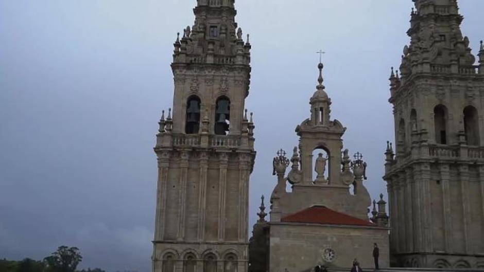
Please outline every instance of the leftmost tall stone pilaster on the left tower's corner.
[{"label": "leftmost tall stone pilaster on the left tower's corner", "polygon": [[168,171],[170,164],[170,153],[163,151],[158,158],[158,185],[157,185],[157,209],[155,215],[154,240],[161,241],[165,229],[166,209],[166,186],[168,183]]}]

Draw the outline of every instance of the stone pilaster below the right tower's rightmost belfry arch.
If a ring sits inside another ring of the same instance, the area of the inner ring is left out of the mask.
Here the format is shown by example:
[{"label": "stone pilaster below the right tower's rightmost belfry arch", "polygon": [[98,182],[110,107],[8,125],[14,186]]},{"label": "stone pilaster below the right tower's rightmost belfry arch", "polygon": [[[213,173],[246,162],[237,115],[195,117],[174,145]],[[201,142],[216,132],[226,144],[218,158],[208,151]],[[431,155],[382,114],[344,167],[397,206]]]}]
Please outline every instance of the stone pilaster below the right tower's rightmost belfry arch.
[{"label": "stone pilaster below the right tower's rightmost belfry arch", "polygon": [[460,184],[462,191],[462,224],[464,225],[464,245],[465,253],[471,254],[472,251],[472,241],[471,241],[471,205],[469,203],[469,166],[460,165],[459,166]]}]

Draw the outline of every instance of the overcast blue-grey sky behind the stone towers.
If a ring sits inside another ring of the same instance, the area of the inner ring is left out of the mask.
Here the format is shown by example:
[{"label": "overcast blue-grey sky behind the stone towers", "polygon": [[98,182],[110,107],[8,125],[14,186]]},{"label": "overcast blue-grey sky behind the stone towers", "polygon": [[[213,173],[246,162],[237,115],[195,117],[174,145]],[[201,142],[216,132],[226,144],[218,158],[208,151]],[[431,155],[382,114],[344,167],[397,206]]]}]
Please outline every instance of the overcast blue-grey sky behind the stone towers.
[{"label": "overcast blue-grey sky behind the stone towers", "polygon": [[[297,3],[297,4],[295,4]],[[82,267],[150,269],[158,120],[172,103],[176,33],[195,0],[0,0],[0,258],[42,259],[78,246]],[[473,53],[482,0],[459,1]],[[411,0],[238,0],[251,34],[257,159],[250,228],[275,179],[275,151],[297,145],[323,49],[344,146],[385,192],[393,139],[390,66],[408,42]]]}]

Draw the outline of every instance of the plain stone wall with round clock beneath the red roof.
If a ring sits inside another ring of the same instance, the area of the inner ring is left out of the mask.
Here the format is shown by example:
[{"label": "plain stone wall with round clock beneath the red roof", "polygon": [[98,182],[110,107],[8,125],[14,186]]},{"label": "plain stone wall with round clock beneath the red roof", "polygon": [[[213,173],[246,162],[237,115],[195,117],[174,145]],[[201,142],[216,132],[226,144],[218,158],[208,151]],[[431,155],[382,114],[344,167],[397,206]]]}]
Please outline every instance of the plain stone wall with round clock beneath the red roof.
[{"label": "plain stone wall with round clock beneath the red roof", "polygon": [[336,253],[334,261],[326,265],[350,267],[356,258],[364,270],[371,269],[373,243],[380,249],[379,265],[388,267],[388,229],[271,223],[270,271],[299,272],[324,264],[325,248]]}]

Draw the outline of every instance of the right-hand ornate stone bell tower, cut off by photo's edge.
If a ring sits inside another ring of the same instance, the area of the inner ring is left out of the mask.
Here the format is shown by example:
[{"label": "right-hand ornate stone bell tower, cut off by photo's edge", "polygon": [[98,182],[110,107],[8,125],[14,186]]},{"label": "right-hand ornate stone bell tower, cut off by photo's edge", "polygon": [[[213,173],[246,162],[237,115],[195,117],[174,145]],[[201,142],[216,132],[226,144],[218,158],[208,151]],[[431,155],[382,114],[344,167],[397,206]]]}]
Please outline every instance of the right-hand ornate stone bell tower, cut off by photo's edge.
[{"label": "right-hand ornate stone bell tower, cut off by photo's edge", "polygon": [[394,264],[484,268],[484,48],[475,65],[456,0],[413,2],[401,77],[390,77]]}]

